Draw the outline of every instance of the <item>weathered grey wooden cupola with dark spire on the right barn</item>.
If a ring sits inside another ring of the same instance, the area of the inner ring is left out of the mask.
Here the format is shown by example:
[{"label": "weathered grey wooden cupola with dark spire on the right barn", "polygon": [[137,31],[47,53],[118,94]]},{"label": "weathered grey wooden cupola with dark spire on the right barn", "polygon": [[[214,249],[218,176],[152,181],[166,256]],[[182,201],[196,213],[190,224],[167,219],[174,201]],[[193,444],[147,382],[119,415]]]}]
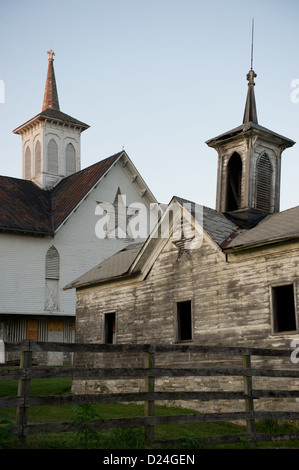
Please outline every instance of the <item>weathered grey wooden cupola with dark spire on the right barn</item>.
[{"label": "weathered grey wooden cupola with dark spire on the right barn", "polygon": [[281,155],[295,143],[258,124],[256,76],[250,69],[243,123],[206,142],[218,153],[216,210],[241,226],[279,212]]}]

